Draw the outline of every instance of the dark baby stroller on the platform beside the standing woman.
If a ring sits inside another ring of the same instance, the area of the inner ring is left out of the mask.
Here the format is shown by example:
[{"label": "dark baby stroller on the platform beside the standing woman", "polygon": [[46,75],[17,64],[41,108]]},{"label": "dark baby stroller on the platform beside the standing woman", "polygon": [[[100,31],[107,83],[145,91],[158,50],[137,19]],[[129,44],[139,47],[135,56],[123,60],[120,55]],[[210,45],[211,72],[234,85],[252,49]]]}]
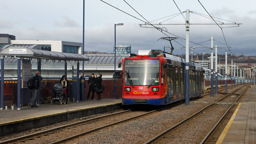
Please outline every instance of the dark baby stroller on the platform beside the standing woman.
[{"label": "dark baby stroller on the platform beside the standing woman", "polygon": [[55,104],[55,102],[60,102],[60,104],[66,104],[65,93],[61,86],[61,83],[56,83],[53,86],[53,98],[51,99],[51,104]]}]

